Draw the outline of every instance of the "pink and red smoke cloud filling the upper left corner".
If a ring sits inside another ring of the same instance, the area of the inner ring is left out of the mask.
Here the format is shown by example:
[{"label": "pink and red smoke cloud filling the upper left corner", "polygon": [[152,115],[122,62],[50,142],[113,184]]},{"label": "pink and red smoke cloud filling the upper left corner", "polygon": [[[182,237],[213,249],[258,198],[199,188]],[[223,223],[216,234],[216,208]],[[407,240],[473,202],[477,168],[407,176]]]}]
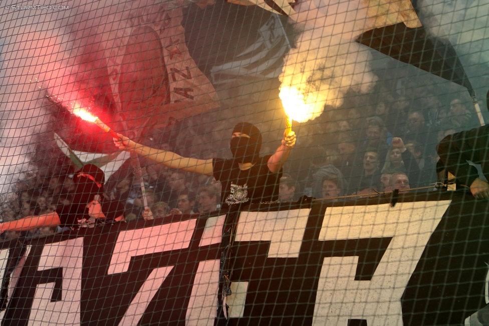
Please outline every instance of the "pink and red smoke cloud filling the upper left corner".
[{"label": "pink and red smoke cloud filling the upper left corner", "polygon": [[[1,194],[12,191],[23,172],[36,170],[37,162],[30,161],[30,154],[50,119],[46,99],[69,109],[75,100],[90,95],[85,90],[100,88],[100,71],[94,66],[103,53],[93,46],[100,44],[96,32],[100,17],[114,22],[118,12],[109,15],[113,9],[109,1],[97,3],[98,8],[94,3],[65,2],[70,8],[65,11],[4,8],[12,5],[13,0],[3,2],[0,15]],[[116,29],[108,31],[110,39]]]}]

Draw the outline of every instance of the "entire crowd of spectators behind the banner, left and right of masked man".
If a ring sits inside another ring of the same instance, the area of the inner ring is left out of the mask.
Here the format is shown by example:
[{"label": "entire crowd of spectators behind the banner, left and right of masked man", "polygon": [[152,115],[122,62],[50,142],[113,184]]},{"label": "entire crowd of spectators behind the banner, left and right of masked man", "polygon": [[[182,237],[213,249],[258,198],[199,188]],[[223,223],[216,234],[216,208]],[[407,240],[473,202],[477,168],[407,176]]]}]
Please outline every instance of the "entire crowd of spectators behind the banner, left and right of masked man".
[{"label": "entire crowd of spectators behind the banner, left and right of masked man", "polygon": [[[367,110],[351,108],[335,112],[334,119],[326,112],[324,122],[301,126],[297,145],[284,166],[279,200],[291,202],[303,195],[328,199],[433,186],[439,159],[436,144],[467,129],[476,119],[475,113],[458,99],[435,112],[413,105],[403,110],[390,112],[382,104]],[[399,119],[404,122],[399,123]],[[160,147],[171,150],[167,143]],[[154,218],[219,209],[221,185],[213,177],[170,170],[144,158],[140,161],[147,204]],[[143,220],[141,179],[126,163],[106,182],[105,195],[124,205],[126,221]],[[74,164],[64,164],[19,181],[16,200],[4,205],[2,219],[41,215],[70,204],[77,169]],[[53,232],[53,228],[42,228],[29,234]]]}]

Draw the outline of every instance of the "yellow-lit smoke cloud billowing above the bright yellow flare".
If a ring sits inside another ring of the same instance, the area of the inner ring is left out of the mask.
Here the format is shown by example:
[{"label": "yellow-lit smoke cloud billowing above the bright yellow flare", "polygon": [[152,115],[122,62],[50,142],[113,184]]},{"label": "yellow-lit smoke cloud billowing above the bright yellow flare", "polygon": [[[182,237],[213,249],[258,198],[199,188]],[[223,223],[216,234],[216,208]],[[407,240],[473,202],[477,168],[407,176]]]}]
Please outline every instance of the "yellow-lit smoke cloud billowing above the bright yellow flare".
[{"label": "yellow-lit smoke cloud billowing above the bright yellow flare", "polygon": [[350,89],[367,93],[377,80],[368,66],[370,57],[366,47],[328,35],[324,29],[304,30],[285,58],[279,77],[282,102],[287,101],[283,90],[297,89],[304,99],[307,118],[303,120],[307,121],[320,116],[325,105],[341,106]]}]

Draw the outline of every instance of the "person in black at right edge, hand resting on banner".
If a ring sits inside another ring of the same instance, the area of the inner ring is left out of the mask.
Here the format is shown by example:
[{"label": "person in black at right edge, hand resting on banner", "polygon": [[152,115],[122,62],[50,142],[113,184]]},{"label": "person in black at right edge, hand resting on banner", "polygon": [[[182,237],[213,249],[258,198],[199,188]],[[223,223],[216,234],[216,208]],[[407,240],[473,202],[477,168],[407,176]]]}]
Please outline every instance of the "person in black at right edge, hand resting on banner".
[{"label": "person in black at right edge, hand resting on banner", "polygon": [[489,199],[489,184],[479,178],[477,169],[467,161],[480,164],[482,173],[489,176],[489,125],[462,131],[445,137],[438,145],[438,155],[446,170],[462,185],[470,187],[477,199]]}]

